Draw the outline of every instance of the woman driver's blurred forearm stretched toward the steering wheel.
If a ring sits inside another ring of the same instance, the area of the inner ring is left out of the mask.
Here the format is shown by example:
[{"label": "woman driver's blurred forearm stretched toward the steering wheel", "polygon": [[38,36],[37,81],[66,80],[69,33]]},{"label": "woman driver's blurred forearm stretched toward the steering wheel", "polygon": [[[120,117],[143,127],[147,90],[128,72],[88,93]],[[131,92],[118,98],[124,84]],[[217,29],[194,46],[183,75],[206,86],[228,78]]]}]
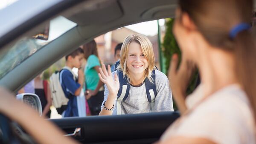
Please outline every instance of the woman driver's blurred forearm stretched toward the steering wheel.
[{"label": "woman driver's blurred forearm stretched toward the steering wheel", "polygon": [[20,124],[38,143],[78,144],[73,139],[64,137],[64,132],[54,124],[41,118],[34,109],[22,104],[20,101],[13,101],[12,104],[12,107],[6,109],[4,114]]}]

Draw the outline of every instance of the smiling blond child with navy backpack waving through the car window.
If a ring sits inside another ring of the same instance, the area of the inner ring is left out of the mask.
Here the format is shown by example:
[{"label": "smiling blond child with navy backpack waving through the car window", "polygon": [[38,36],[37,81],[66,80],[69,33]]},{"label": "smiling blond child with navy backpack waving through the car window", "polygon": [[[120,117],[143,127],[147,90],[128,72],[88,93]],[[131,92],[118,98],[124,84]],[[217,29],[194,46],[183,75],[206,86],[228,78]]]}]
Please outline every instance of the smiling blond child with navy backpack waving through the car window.
[{"label": "smiling blond child with navy backpack waving through the car window", "polygon": [[151,42],[139,34],[125,38],[120,64],[111,73],[103,65],[99,78],[105,83],[99,115],[173,111],[172,92],[165,74],[154,69]]}]

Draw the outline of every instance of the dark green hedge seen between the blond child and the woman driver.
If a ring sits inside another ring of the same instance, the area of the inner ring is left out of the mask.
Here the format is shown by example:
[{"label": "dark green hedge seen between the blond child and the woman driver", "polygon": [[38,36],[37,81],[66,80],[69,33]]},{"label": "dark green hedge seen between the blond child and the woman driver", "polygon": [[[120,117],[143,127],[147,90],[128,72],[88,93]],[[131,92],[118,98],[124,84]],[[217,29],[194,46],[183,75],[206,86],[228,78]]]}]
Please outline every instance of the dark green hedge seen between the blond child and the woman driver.
[{"label": "dark green hedge seen between the blond child and the woman driver", "polygon": [[[166,68],[167,73],[168,73],[170,61],[171,61],[173,54],[177,53],[178,58],[179,58],[179,64],[180,64],[180,60],[181,60],[180,48],[177,45],[177,42],[175,40],[173,31],[172,31],[173,24],[174,24],[174,19],[172,19],[172,18],[166,19],[166,34],[165,34],[165,37],[163,40],[163,46],[162,46],[163,49],[162,50],[164,53],[164,57],[166,58],[166,63],[165,63],[166,67],[165,68]],[[192,93],[193,90],[195,89],[197,77],[198,77],[198,71],[195,72],[195,74],[192,76],[191,81],[189,82],[189,86],[186,91],[187,95]],[[174,109],[177,109],[175,101],[174,101]]]}]

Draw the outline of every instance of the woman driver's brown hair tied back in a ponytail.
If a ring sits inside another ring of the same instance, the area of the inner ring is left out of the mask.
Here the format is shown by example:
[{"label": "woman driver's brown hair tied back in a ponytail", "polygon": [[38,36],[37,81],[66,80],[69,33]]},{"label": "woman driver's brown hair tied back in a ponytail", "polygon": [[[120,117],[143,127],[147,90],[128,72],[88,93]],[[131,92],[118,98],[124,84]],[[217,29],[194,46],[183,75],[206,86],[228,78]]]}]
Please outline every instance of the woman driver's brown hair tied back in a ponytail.
[{"label": "woman driver's brown hair tied back in a ponytail", "polygon": [[247,94],[256,119],[256,46],[251,30],[235,37],[230,31],[239,23],[250,24],[252,0],[180,0],[181,12],[186,12],[198,31],[212,46],[233,52],[237,78]]}]

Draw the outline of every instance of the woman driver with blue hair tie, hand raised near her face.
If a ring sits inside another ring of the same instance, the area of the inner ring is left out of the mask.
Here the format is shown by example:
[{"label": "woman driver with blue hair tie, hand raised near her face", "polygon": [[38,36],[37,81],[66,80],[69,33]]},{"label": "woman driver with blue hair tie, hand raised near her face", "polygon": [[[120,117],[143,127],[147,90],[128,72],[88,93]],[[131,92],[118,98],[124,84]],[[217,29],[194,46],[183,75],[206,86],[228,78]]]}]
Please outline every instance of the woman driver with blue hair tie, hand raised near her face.
[{"label": "woman driver with blue hair tie, hand raised near her face", "polygon": [[[179,0],[173,32],[182,60],[177,69],[173,55],[169,80],[182,115],[161,144],[256,143],[252,12],[252,0]],[[201,84],[186,98],[193,64]]]}]

